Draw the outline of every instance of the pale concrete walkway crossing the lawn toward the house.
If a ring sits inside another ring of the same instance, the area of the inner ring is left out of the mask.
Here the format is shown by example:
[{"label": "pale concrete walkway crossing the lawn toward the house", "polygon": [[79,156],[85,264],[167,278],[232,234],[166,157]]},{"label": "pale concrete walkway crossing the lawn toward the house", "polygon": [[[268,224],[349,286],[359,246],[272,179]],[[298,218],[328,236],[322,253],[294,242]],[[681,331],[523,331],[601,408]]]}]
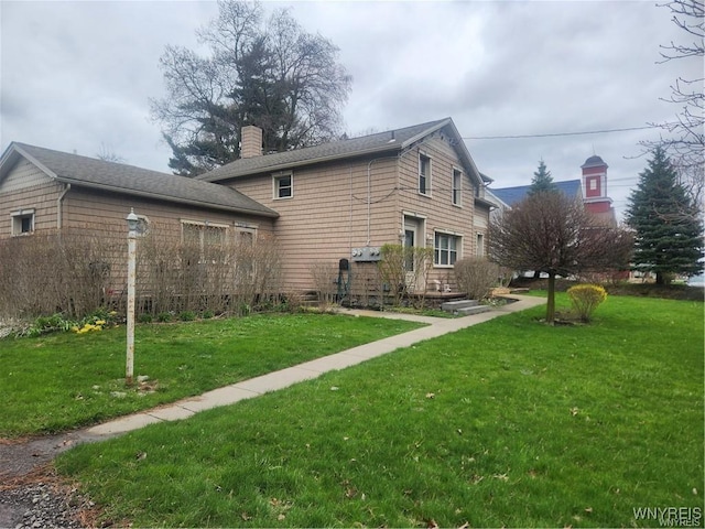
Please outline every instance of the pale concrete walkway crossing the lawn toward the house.
[{"label": "pale concrete walkway crossing the lawn toward the house", "polygon": [[490,312],[456,319],[415,316],[411,314],[344,309],[340,311],[341,314],[409,320],[427,323],[429,325],[408,333],[398,334],[397,336],[390,336],[389,338],[343,350],[334,355],[299,364],[297,366],[289,367],[280,371],[270,373],[262,375],[261,377],[251,378],[249,380],[214,389],[213,391],[208,391],[198,397],[191,397],[172,404],[165,404],[152,410],[122,417],[88,428],[83,430],[80,433],[75,432],[74,435],[85,441],[97,441],[102,438],[119,435],[156,422],[187,419],[203,410],[232,404],[245,399],[251,399],[252,397],[258,397],[269,391],[275,391],[296,382],[316,378],[327,371],[344,369],[346,367],[361,364],[365,360],[386,355],[392,350],[399,349],[400,347],[409,347],[410,345],[417,344],[424,339],[435,338],[447,333],[459,331],[460,328],[494,320],[495,317],[505,314],[523,311],[545,303],[545,300],[541,298],[514,294],[512,294],[511,298],[519,301],[494,309]]}]

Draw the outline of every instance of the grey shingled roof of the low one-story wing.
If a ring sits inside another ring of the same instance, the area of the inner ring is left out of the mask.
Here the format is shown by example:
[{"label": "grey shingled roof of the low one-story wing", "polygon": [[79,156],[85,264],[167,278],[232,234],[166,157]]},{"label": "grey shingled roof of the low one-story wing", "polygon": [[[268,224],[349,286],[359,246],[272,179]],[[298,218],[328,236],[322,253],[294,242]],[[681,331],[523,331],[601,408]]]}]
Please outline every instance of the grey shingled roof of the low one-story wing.
[{"label": "grey shingled roof of the low one-story wing", "polygon": [[72,185],[210,209],[265,217],[279,216],[273,209],[224,185],[19,142],[12,142],[3,154],[0,161],[0,180],[7,175],[19,156],[28,159],[47,176]]}]

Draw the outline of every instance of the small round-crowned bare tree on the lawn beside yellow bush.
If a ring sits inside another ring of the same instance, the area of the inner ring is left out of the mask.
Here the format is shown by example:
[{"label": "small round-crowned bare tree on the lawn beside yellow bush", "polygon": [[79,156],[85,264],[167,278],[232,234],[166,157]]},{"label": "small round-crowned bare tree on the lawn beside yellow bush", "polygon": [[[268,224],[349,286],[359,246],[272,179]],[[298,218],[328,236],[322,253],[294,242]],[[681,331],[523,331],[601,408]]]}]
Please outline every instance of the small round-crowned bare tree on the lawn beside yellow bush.
[{"label": "small round-crowned bare tree on the lawn beside yellow bush", "polygon": [[528,196],[496,217],[489,258],[514,270],[549,274],[546,322],[555,320],[555,278],[626,269],[633,247],[622,228],[599,224],[582,202],[562,193]]}]

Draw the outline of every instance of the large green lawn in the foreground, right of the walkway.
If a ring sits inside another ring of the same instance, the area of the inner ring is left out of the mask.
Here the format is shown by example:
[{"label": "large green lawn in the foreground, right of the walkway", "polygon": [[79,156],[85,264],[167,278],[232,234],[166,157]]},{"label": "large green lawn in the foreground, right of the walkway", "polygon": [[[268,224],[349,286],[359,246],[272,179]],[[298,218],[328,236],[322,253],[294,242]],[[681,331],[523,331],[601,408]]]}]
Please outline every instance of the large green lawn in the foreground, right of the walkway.
[{"label": "large green lawn in the foreground, right of the walkway", "polygon": [[106,521],[140,527],[659,527],[634,509],[702,512],[702,303],[610,296],[589,326],[549,327],[543,311],[78,446],[57,467]]}]

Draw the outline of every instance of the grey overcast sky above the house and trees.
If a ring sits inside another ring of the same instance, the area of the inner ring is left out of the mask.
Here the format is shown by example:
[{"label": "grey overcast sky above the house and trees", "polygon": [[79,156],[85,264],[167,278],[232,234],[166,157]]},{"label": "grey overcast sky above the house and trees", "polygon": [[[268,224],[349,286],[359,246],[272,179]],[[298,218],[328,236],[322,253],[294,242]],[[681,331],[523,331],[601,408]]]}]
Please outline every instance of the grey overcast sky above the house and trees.
[{"label": "grey overcast sky above the house and trees", "polygon": [[[494,187],[529,184],[543,159],[555,181],[581,177],[593,154],[609,165],[623,213],[658,129],[528,139],[672,121],[677,76],[699,58],[657,64],[687,42],[654,1],[294,1],[294,18],[340,48],[352,75],[350,136],[452,117]],[[0,1],[0,149],[11,141],[169,172],[171,154],[149,98],[164,96],[167,44],[206,52],[195,31],[212,1]]]}]

